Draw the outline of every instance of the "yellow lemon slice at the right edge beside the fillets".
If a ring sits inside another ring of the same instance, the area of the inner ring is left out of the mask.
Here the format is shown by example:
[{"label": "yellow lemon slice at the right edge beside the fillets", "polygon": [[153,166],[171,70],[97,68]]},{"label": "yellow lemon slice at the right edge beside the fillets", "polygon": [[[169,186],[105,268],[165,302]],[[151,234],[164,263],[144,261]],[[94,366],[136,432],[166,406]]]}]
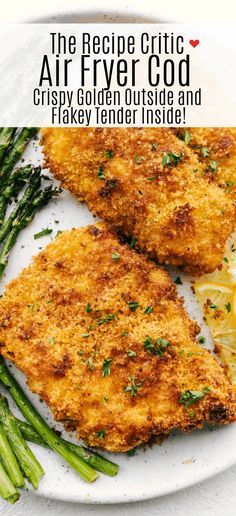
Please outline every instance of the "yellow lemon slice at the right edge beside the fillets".
[{"label": "yellow lemon slice at the right edge beside the fillets", "polygon": [[236,285],[229,273],[230,261],[226,265],[221,271],[201,278],[195,283],[194,290],[211,331],[216,353],[236,383]]}]

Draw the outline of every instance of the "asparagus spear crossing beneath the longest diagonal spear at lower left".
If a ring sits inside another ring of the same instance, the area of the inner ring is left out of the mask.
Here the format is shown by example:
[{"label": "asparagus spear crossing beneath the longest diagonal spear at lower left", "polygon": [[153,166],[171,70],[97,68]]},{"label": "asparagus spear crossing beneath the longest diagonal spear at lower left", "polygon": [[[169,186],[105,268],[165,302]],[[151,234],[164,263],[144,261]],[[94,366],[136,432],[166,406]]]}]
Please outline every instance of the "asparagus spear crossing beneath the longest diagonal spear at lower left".
[{"label": "asparagus spear crossing beneath the longest diagonal spear at lower left", "polygon": [[[34,428],[26,423],[25,421],[21,421],[16,418],[16,422],[19,430],[21,431],[23,437],[27,441],[31,441],[33,443],[39,444],[40,446],[44,446],[45,448],[49,448],[44,439],[34,430]],[[98,453],[94,451],[88,450],[83,446],[78,446],[77,444],[66,441],[65,439],[60,438],[60,440],[67,444],[68,448],[74,452],[76,455],[81,457],[85,462],[87,462],[92,468],[104,473],[105,475],[109,475],[110,477],[114,477],[118,473],[119,466],[114,462],[111,462],[105,457],[102,457]]]}]

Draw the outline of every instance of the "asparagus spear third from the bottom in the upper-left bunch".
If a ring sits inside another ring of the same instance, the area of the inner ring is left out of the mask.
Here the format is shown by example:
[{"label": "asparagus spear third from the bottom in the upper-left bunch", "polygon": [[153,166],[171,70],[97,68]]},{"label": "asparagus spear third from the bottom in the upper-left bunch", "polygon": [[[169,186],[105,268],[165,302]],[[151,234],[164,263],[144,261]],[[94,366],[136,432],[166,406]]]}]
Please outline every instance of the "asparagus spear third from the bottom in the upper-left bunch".
[{"label": "asparagus spear third from the bottom in the upper-left bunch", "polygon": [[8,178],[4,186],[4,190],[0,194],[0,227],[4,222],[8,204],[11,202],[12,197],[16,197],[23,188],[27,180],[30,178],[32,171],[32,165],[27,165],[26,167],[14,170]]}]

